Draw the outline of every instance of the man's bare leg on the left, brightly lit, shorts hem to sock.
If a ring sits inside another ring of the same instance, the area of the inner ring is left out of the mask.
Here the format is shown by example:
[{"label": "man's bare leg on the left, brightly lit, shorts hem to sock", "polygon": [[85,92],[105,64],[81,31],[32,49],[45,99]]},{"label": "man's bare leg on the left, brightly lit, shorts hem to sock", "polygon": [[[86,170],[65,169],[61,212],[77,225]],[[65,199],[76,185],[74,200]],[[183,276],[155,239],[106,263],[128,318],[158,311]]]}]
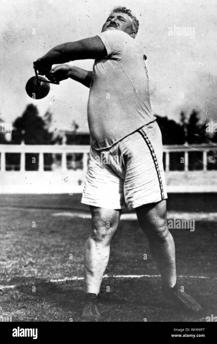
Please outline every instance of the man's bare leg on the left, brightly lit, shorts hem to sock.
[{"label": "man's bare leg on the left, brightly lit, shorts hem to sock", "polygon": [[86,243],[85,291],[98,295],[109,260],[111,238],[118,227],[120,210],[90,206],[90,211],[92,232]]}]

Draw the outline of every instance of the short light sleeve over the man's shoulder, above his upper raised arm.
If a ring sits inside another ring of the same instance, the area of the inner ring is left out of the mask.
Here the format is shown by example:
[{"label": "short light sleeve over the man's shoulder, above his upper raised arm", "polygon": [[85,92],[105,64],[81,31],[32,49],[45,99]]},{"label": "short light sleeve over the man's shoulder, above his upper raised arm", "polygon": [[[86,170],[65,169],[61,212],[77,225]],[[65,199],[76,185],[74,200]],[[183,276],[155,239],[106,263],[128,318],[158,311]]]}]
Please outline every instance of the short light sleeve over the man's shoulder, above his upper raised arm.
[{"label": "short light sleeve over the man's shoulder, above his upper raised arm", "polygon": [[133,39],[121,30],[107,30],[97,35],[105,45],[107,56],[120,60],[127,50],[128,43]]}]

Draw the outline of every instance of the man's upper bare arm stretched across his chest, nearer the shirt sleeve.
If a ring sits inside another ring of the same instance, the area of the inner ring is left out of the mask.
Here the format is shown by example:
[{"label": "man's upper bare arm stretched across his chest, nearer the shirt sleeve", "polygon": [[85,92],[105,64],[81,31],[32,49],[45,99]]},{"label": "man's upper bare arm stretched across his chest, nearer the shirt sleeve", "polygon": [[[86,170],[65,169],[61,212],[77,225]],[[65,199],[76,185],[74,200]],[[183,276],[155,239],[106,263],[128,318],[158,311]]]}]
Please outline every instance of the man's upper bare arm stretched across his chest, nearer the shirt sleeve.
[{"label": "man's upper bare arm stretched across his chest, nearer the shirt sleeve", "polygon": [[39,74],[46,75],[53,64],[61,64],[74,60],[100,59],[107,56],[107,51],[98,36],[89,37],[76,42],[68,42],[55,46],[47,54],[39,58],[35,66]]}]

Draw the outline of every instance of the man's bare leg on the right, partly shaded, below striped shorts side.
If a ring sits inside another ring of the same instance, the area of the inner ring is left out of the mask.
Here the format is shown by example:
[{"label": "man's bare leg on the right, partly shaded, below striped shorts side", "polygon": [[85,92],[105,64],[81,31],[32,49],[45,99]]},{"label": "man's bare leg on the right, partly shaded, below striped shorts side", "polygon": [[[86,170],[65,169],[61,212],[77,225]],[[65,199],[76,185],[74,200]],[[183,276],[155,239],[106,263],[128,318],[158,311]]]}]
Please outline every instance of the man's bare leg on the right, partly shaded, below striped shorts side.
[{"label": "man's bare leg on the right, partly shaded, below striped shorts side", "polygon": [[143,232],[147,235],[153,258],[158,264],[164,287],[176,283],[175,245],[167,227],[166,200],[135,209]]}]

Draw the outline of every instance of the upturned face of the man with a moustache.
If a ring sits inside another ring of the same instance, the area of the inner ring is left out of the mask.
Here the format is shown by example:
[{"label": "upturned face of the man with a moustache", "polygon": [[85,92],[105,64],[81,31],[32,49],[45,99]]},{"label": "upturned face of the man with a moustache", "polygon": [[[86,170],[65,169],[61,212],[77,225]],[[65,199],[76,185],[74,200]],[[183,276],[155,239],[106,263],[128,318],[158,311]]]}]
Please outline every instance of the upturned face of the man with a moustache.
[{"label": "upturned face of the man with a moustache", "polygon": [[133,30],[133,21],[126,13],[111,13],[102,26],[102,32],[106,30],[121,30],[133,38],[136,36]]}]

